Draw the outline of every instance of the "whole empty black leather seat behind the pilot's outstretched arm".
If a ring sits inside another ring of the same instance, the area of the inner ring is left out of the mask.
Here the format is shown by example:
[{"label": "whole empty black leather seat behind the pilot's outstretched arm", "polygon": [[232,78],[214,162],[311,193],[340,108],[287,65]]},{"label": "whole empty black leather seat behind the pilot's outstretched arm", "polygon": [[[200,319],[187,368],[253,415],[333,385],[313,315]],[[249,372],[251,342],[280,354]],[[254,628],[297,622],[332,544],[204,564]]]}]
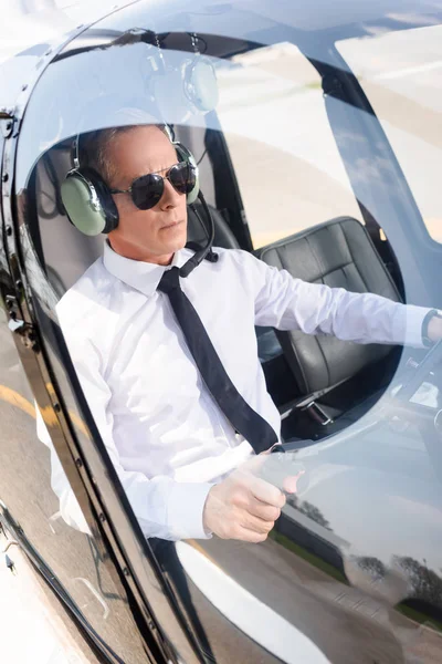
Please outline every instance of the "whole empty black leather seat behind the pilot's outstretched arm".
[{"label": "whole empty black leather seat behind the pilot's outstretched arm", "polygon": [[[266,263],[312,283],[372,292],[400,301],[398,289],[367,230],[350,217],[308,228],[255,253]],[[338,426],[336,423],[322,426],[327,418],[336,419],[346,413],[349,422],[366,412],[382,393],[393,371],[390,363],[397,362],[391,346],[361,345],[298,331],[276,331],[276,335],[295,378],[298,406],[313,401],[319,406],[319,409],[315,406],[308,409],[312,426],[307,425],[304,432],[314,437],[328,435]],[[317,423],[313,425],[315,418]],[[285,426],[291,426],[290,418]]]}]

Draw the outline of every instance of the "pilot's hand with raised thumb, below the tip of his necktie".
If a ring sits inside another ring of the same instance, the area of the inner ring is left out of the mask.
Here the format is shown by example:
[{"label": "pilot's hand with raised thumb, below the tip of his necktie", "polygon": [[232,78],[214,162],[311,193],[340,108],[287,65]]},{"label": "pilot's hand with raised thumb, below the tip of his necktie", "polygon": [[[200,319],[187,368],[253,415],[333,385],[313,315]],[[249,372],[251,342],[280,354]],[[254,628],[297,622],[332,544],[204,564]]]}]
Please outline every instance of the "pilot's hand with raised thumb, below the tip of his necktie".
[{"label": "pilot's hand with raised thumb, below the tip of his necktie", "polygon": [[204,528],[222,539],[263,542],[284,504],[285,496],[280,489],[245,466],[210,489],[203,512]]}]

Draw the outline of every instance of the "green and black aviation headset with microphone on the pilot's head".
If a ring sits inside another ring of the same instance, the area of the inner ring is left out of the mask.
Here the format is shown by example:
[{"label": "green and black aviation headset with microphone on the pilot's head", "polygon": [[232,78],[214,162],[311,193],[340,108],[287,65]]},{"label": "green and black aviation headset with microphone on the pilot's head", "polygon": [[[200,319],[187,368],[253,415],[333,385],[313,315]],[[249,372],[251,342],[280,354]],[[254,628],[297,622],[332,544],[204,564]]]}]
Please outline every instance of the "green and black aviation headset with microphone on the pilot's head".
[{"label": "green and black aviation headset with microphone on the pilot's head", "polygon": [[[180,269],[181,277],[187,277],[209,253],[212,260],[215,259],[215,255],[211,253],[214,225],[202,191],[200,191],[198,165],[192,153],[185,145],[175,141],[173,131],[170,126],[164,125],[162,131],[173,145],[178,160],[188,162],[196,168],[196,185],[187,194],[187,204],[191,205],[199,198],[210,226],[209,240],[206,247],[199,249]],[[74,139],[72,149],[74,168],[66,174],[61,185],[61,197],[67,218],[75,228],[86,236],[93,237],[99,234],[109,234],[118,226],[117,206],[103,177],[94,168],[81,166],[78,143],[80,135]],[[198,210],[196,208],[192,209],[202,224]]]}]

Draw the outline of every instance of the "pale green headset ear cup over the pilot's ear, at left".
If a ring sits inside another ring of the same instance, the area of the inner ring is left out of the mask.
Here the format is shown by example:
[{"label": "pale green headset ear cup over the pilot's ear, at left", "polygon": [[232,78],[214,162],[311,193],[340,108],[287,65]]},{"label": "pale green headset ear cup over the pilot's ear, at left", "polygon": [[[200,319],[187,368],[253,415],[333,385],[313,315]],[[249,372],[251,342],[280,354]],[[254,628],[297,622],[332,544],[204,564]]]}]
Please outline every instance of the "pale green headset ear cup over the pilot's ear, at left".
[{"label": "pale green headset ear cup over the pilot's ear, at left", "polygon": [[70,221],[87,236],[108,234],[118,226],[118,210],[103,178],[92,168],[71,170],[61,186]]}]

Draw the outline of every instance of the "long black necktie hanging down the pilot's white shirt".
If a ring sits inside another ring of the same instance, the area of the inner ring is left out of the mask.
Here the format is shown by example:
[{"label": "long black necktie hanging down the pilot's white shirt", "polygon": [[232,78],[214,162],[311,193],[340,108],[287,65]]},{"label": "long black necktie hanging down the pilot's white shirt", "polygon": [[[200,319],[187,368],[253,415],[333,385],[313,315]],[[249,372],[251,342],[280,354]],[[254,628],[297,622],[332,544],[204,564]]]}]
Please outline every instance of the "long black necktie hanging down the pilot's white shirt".
[{"label": "long black necktie hanging down the pilot's white shirt", "polygon": [[167,270],[161,277],[158,289],[169,295],[173,313],[198,370],[231,425],[244,436],[256,454],[272,447],[277,443],[275,432],[249,406],[229,378],[200,317],[181,290],[179,269]]}]

